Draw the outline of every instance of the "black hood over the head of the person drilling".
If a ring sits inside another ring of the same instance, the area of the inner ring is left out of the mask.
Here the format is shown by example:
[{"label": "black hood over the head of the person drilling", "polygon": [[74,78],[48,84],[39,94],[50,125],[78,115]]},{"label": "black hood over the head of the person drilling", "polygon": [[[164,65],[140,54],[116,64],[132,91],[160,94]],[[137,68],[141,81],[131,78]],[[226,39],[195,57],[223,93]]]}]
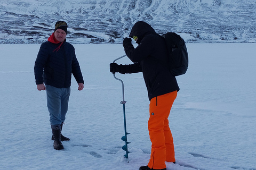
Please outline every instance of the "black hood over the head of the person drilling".
[{"label": "black hood over the head of the person drilling", "polygon": [[156,31],[148,23],[144,21],[138,21],[133,25],[129,37],[132,38],[132,36],[137,36],[138,40],[136,43],[140,44],[140,41],[143,39],[143,37],[148,34],[156,34]]}]

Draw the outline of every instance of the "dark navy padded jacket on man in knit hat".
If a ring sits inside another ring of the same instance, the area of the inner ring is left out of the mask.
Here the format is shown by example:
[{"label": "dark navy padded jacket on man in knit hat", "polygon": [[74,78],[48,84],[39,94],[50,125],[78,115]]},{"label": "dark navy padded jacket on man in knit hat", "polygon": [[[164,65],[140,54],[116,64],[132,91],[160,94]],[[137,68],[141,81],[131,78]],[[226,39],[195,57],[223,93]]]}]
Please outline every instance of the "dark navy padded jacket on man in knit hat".
[{"label": "dark navy padded jacket on man in knit hat", "polygon": [[[47,41],[41,45],[34,67],[36,84],[68,88],[71,86],[72,73],[77,83],[84,83],[75,48],[66,40],[61,46],[60,44]],[[53,52],[59,46],[60,49]]]}]

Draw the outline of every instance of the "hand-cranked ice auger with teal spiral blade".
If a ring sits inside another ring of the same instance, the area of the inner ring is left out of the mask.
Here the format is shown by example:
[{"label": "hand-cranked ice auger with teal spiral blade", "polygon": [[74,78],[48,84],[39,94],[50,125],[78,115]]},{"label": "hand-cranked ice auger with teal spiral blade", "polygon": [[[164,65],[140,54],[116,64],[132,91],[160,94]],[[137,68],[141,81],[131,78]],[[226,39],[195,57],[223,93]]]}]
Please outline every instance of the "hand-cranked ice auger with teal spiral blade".
[{"label": "hand-cranked ice auger with teal spiral blade", "polygon": [[[115,63],[115,61],[117,61],[120,58],[123,58],[125,56],[126,55],[116,58],[116,60],[114,60],[113,63]],[[126,132],[126,118],[125,118],[125,103],[126,103],[126,101],[124,100],[124,82],[121,79],[116,78],[115,73],[113,75],[116,80],[119,80],[122,83],[123,101],[121,101],[120,103],[123,105],[123,112],[124,112],[124,136],[121,139],[125,142],[125,145],[122,147],[122,149],[126,151],[126,154],[124,155],[124,157],[128,159],[128,154],[130,152],[128,151],[127,145],[131,142],[127,142],[127,134],[130,134],[130,133]]]}]

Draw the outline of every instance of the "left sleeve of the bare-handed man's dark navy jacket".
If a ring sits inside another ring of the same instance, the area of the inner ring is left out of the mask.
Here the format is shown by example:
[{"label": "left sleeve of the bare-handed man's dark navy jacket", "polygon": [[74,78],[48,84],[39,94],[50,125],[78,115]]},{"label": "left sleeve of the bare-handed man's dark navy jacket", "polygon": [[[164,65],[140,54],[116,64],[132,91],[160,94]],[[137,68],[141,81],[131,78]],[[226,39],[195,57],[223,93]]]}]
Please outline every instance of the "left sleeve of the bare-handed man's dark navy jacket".
[{"label": "left sleeve of the bare-handed man's dark navy jacket", "polygon": [[43,84],[44,79],[43,79],[43,72],[44,72],[44,67],[46,65],[46,62],[48,60],[49,54],[48,50],[46,48],[45,44],[42,44],[39,52],[37,54],[37,58],[35,61],[35,66],[34,66],[34,73],[35,73],[35,79],[36,79],[36,84]]}]

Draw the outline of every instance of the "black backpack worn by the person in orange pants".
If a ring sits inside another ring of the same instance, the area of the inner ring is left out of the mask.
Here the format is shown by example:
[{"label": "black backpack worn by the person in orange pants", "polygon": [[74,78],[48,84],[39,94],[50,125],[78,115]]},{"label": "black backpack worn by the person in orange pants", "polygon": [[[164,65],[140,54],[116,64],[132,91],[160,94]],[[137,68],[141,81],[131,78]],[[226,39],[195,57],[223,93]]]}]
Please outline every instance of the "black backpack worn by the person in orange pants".
[{"label": "black backpack worn by the person in orange pants", "polygon": [[185,41],[174,32],[163,35],[168,50],[169,70],[174,76],[185,74],[188,69],[188,52]]}]

